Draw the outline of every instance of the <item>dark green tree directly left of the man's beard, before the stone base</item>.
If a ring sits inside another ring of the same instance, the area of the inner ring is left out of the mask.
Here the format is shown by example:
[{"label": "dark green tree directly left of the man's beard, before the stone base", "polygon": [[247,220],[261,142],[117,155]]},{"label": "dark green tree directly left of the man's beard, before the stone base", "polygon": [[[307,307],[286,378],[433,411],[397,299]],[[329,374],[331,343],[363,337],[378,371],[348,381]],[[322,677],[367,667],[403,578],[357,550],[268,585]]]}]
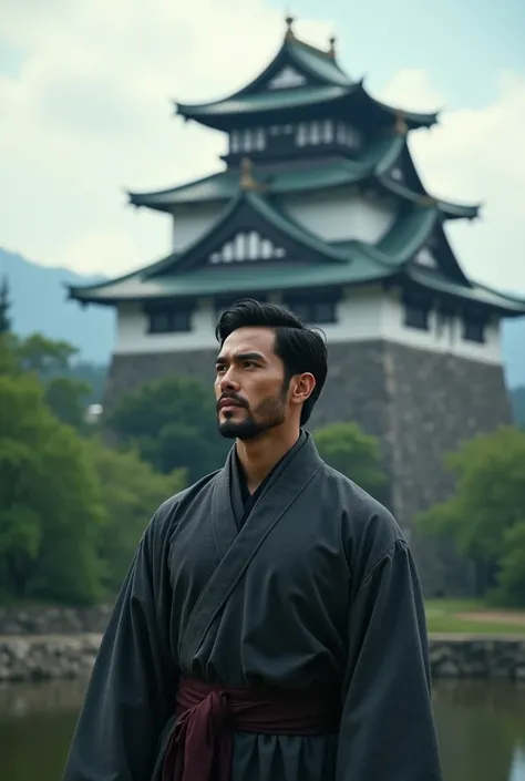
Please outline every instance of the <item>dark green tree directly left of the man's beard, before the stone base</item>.
[{"label": "dark green tree directly left of the man's beard, before the stone base", "polygon": [[107,425],[157,471],[187,469],[192,483],[219,469],[230,446],[217,432],[212,389],[187,377],[155,380],[127,393]]}]

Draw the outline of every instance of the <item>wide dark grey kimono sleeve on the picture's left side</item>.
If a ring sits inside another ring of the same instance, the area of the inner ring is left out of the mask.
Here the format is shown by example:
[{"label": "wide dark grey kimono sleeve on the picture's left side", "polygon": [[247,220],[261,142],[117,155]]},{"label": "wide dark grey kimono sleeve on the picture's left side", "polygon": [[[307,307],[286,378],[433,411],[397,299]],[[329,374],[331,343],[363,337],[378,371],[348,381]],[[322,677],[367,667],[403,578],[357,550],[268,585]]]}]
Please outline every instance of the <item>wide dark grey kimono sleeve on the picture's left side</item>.
[{"label": "wide dark grey kimono sleeve on the picture's left side", "polygon": [[103,636],[63,781],[150,781],[173,710],[165,512],[146,528]]}]

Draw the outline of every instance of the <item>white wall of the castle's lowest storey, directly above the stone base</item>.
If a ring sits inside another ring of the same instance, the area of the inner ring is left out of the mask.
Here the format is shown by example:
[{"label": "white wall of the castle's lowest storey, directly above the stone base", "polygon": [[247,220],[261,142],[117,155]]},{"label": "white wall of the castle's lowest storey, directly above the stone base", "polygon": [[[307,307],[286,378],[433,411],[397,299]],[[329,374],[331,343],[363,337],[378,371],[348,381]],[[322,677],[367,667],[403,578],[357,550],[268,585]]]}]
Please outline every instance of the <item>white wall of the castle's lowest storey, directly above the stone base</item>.
[{"label": "white wall of the castle's lowest storey, directly above the stone base", "polygon": [[[274,299],[279,302],[278,296]],[[215,349],[216,312],[209,301],[200,301],[193,316],[192,331],[185,333],[148,333],[147,319],[135,304],[119,308],[117,337],[114,352],[137,354],[184,350]],[[338,307],[338,322],[322,326],[329,343],[360,342],[382,339],[415,349],[450,353],[484,363],[501,363],[500,326],[486,329],[483,345],[465,341],[460,320],[453,319],[444,327],[430,315],[428,331],[404,326],[404,311],[393,294],[378,288],[348,290]]]}]

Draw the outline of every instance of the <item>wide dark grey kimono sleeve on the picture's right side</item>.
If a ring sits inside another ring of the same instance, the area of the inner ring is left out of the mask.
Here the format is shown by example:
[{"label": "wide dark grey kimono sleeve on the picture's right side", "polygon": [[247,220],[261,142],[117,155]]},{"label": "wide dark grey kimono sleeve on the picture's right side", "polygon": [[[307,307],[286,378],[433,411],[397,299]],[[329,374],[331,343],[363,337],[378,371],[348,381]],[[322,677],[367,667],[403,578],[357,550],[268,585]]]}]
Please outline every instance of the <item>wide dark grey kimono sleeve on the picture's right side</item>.
[{"label": "wide dark grey kimono sleeve on the picture's right side", "polygon": [[441,781],[422,590],[402,538],[359,585],[348,639],[337,781]]}]

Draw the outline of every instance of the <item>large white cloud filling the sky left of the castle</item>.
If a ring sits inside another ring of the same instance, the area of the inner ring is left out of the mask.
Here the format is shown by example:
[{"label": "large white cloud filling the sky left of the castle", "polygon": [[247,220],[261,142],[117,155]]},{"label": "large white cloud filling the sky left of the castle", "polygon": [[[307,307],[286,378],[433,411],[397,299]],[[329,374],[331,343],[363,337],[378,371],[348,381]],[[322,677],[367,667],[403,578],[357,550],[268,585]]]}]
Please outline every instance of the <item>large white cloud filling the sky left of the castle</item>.
[{"label": "large white cloud filling the sky left of the castle", "polygon": [[[257,74],[279,45],[282,14],[262,0],[42,9],[0,3],[1,35],[23,54],[16,75],[0,74],[0,246],[119,274],[169,249],[167,217],[127,207],[124,191],[203,175],[224,150],[220,134],[175,119],[173,101],[214,99]],[[298,31],[328,45],[328,24],[306,20]]]}]

